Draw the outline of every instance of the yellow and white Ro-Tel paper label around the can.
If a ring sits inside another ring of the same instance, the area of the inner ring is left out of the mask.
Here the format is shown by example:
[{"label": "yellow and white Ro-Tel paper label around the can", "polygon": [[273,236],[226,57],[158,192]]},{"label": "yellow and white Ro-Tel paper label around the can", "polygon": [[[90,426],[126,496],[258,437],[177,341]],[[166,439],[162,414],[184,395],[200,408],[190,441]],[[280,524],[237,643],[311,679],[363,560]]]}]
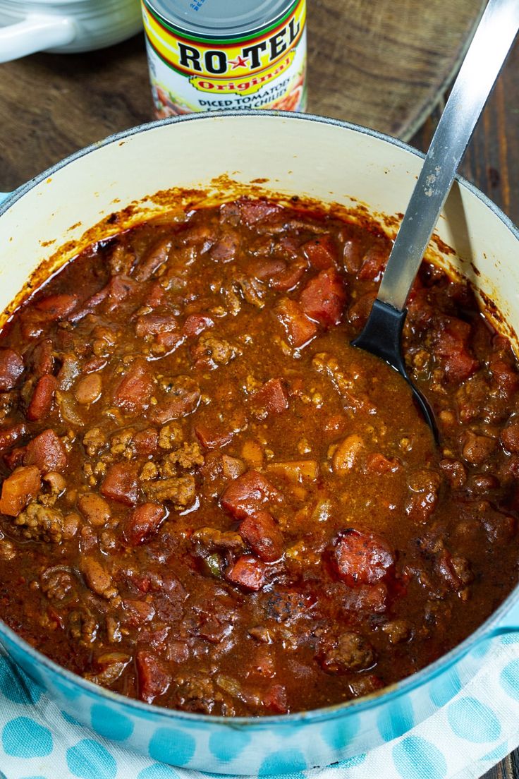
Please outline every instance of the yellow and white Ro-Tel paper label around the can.
[{"label": "yellow and white Ro-Tel paper label around the can", "polygon": [[142,0],[142,16],[157,118],[247,108],[304,111],[305,0],[253,37],[218,41],[167,23],[148,0]]}]

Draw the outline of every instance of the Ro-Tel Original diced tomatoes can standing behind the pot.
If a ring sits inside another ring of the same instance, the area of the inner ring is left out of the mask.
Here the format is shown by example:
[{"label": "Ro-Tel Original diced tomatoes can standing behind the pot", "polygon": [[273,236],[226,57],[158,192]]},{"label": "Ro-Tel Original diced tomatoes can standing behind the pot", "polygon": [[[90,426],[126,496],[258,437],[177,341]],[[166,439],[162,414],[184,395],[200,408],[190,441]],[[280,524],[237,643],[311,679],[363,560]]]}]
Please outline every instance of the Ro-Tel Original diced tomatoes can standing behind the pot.
[{"label": "Ro-Tel Original diced tomatoes can standing behind the pot", "polygon": [[306,108],[306,0],[142,0],[157,118]]}]

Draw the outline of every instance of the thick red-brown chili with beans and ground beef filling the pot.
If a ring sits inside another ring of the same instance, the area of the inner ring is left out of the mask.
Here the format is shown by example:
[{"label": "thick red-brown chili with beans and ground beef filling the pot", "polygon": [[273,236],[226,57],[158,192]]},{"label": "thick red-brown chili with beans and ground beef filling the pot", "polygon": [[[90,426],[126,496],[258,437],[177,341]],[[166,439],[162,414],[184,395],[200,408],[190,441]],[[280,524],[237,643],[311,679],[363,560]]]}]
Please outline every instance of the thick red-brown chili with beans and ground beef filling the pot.
[{"label": "thick red-brown chili with beans and ground beef filling the pot", "polygon": [[391,243],[240,197],[83,250],[0,341],[0,615],[93,682],[228,716],[412,674],[517,583],[519,374],[423,263],[405,382],[349,342]]}]

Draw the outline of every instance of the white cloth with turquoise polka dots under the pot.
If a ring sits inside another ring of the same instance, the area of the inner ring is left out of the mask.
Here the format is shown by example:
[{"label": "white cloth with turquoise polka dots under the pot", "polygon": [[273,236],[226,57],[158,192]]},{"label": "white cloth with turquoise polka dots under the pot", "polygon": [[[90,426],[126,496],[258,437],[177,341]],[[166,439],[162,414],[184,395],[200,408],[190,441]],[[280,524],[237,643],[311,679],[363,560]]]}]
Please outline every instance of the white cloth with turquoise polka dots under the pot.
[{"label": "white cloth with turquoise polka dots under the pot", "polygon": [[[0,654],[0,779],[195,779],[88,731]],[[286,779],[476,779],[519,746],[519,636],[493,641],[481,671],[428,720],[332,767]],[[207,774],[206,774],[207,775]]]}]

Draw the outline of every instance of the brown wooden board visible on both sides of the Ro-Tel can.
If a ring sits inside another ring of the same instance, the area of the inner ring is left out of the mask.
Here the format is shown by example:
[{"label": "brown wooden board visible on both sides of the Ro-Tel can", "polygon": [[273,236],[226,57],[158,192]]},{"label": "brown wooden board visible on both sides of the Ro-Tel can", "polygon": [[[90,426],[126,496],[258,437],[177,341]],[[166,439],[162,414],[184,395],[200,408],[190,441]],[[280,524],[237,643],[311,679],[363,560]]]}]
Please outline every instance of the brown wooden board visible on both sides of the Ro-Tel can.
[{"label": "brown wooden board visible on both sides of the Ro-Tel can", "polygon": [[[310,111],[409,137],[447,83],[483,0],[309,0]],[[142,35],[0,65],[0,189],[152,118]]]}]

